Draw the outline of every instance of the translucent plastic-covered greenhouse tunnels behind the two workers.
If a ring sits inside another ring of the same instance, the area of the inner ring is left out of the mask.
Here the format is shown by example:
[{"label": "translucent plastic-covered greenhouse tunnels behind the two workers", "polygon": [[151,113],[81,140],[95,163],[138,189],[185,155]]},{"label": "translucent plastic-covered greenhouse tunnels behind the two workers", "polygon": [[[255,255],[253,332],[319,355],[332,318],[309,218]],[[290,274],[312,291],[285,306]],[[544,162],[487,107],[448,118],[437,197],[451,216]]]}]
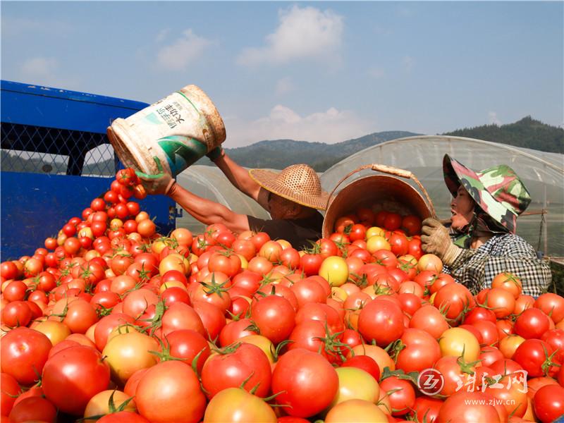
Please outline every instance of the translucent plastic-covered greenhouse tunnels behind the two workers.
[{"label": "translucent plastic-covered greenhouse tunnels behind the two workers", "polygon": [[[367,164],[384,164],[411,171],[424,185],[439,219],[450,217],[450,192],[443,180],[443,156],[449,154],[479,171],[496,164],[512,167],[527,186],[532,202],[520,216],[517,234],[541,255],[562,262],[564,257],[564,155],[513,147],[484,140],[443,135],[422,135],[383,142],[357,152],[320,174],[324,190],[331,192],[348,173]],[[357,178],[374,174],[365,169],[344,180],[338,195]],[[196,195],[219,202],[234,212],[267,219],[267,212],[229,183],[215,166],[195,165],[178,175],[178,182]],[[406,180],[420,190],[413,180]],[[184,213],[177,227],[202,231],[204,226]]]}]

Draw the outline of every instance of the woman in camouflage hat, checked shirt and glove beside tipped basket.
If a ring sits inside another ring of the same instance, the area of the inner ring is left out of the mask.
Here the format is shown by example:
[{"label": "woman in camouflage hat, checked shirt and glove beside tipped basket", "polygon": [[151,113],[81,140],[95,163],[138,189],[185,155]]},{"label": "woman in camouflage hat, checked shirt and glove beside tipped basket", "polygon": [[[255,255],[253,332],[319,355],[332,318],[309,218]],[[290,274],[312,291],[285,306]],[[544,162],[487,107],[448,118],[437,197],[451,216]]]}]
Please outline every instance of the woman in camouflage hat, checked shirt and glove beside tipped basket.
[{"label": "woman in camouflage hat, checked shirt and glove beside tipped basket", "polygon": [[521,279],[525,295],[538,297],[551,282],[550,267],[532,245],[515,235],[517,216],[531,197],[515,171],[506,165],[474,172],[445,154],[445,183],[453,195],[450,231],[425,219],[422,248],[443,260],[446,273],[472,293],[491,287],[503,271]]}]

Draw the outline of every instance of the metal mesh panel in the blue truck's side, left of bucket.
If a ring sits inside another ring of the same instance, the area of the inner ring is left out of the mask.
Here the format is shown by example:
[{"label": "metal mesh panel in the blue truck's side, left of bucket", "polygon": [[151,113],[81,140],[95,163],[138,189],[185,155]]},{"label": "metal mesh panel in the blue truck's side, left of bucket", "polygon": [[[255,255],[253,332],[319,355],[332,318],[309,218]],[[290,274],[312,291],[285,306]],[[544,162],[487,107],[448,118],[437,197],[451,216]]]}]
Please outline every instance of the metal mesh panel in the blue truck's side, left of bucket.
[{"label": "metal mesh panel in the blue truck's side, left of bucket", "polygon": [[118,159],[106,134],[1,124],[1,170],[114,176]]}]

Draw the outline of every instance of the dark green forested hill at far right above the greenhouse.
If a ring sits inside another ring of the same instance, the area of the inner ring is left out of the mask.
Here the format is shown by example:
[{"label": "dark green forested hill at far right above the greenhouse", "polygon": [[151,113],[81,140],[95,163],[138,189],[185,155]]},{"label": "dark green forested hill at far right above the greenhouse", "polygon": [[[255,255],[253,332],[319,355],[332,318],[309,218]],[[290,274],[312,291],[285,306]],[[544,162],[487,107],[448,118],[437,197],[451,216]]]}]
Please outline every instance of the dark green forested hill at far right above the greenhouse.
[{"label": "dark green forested hill at far right above the greenhouse", "polygon": [[482,125],[458,129],[442,135],[500,142],[515,147],[538,149],[542,152],[564,153],[564,129],[546,125],[531,116],[507,125]]}]

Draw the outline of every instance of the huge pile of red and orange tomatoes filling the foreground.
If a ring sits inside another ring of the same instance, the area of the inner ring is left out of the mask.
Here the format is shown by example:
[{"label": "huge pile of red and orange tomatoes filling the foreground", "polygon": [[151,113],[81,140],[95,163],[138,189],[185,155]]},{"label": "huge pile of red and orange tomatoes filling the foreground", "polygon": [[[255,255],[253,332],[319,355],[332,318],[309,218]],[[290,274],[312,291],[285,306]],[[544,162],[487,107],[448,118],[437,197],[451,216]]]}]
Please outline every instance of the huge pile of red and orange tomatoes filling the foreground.
[{"label": "huge pile of red and orange tomatoes filling the foreground", "polygon": [[[551,422],[564,298],[472,295],[417,216],[358,209],[295,250],[157,232],[131,169],[1,263],[1,422]],[[8,417],[9,416],[9,417]]]}]

